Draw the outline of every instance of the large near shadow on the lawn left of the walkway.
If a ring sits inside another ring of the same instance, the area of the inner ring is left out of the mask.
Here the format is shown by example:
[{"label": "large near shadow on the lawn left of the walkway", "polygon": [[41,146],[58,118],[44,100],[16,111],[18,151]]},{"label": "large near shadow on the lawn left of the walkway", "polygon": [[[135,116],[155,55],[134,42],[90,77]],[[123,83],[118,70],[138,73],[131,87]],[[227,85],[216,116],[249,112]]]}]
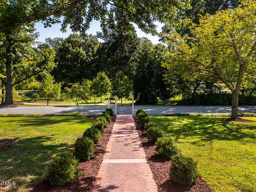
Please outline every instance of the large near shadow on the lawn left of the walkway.
[{"label": "large near shadow on the lawn left of the walkway", "polygon": [[49,144],[53,140],[53,135],[16,139],[11,147],[0,151],[0,179],[16,181],[14,188],[24,185],[26,179],[32,179],[28,185],[41,181],[52,156],[70,150],[66,143]]}]

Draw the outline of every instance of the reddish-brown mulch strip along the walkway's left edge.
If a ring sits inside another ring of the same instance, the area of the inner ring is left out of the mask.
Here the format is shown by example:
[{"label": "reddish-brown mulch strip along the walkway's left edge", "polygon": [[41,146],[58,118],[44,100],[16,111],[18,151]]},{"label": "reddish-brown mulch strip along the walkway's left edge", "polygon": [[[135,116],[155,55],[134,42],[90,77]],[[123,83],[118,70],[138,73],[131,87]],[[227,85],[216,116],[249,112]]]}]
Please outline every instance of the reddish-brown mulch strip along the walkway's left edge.
[{"label": "reddish-brown mulch strip along the walkway's left edge", "polygon": [[27,188],[27,191],[91,191],[100,170],[103,156],[106,153],[107,144],[115,121],[116,117],[111,117],[111,123],[106,127],[102,137],[100,138],[100,142],[95,148],[94,158],[89,161],[79,163],[79,168],[82,170],[82,177],[78,178],[77,181],[62,187],[54,187],[49,181],[44,180],[35,187]]}]

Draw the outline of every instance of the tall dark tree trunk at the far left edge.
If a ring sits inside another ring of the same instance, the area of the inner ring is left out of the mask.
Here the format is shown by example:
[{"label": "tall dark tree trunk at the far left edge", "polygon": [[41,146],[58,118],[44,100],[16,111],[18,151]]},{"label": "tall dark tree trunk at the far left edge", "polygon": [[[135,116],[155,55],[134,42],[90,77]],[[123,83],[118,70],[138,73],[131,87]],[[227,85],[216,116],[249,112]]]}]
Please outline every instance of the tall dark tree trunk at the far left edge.
[{"label": "tall dark tree trunk at the far left edge", "polygon": [[6,41],[9,43],[6,47],[6,84],[5,84],[5,105],[13,104],[13,95],[12,95],[12,58],[11,58],[11,39],[9,35],[6,35]]}]

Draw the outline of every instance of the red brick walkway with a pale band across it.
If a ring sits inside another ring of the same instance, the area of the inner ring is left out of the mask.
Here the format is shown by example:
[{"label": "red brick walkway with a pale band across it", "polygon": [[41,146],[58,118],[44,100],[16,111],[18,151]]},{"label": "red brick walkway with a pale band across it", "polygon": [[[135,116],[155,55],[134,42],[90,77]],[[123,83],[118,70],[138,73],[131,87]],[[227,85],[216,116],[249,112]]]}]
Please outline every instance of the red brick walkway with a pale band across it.
[{"label": "red brick walkway with a pale band across it", "polygon": [[118,115],[93,192],[157,191],[131,115]]}]

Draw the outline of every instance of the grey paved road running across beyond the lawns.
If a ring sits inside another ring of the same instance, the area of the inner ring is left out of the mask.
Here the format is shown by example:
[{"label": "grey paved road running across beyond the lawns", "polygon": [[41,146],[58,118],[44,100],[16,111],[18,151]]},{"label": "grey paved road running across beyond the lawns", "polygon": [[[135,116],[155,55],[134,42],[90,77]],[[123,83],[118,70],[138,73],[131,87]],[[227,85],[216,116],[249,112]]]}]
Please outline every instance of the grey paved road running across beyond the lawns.
[{"label": "grey paved road running across beyond the lawns", "polygon": [[[79,111],[84,114],[100,114],[107,106],[81,106],[81,107],[0,107],[0,114],[51,114],[70,113]],[[114,109],[114,107],[111,107]],[[134,110],[144,109],[151,115],[169,113],[230,113],[229,106],[135,106]],[[131,106],[118,106],[117,114],[131,114]],[[256,113],[256,106],[241,106],[239,113]]]}]

